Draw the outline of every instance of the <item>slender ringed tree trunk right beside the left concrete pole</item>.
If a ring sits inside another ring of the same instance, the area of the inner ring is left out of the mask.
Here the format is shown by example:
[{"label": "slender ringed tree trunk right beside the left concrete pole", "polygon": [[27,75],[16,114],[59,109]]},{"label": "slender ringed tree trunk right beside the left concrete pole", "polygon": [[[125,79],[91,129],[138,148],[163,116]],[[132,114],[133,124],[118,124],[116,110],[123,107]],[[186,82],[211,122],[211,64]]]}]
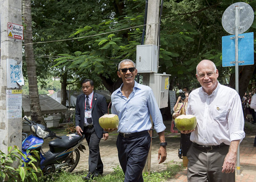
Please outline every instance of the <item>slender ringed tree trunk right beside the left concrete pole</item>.
[{"label": "slender ringed tree trunk right beside the left concrete pole", "polygon": [[22,13],[25,23],[24,30],[24,44],[25,44],[25,55],[26,55],[26,66],[29,79],[29,100],[30,100],[30,113],[32,121],[38,122],[40,124],[45,124],[44,119],[41,114],[41,107],[39,104],[38,95],[38,84],[36,76],[36,65],[34,57],[33,45],[32,43],[32,18],[31,18],[31,1],[22,0]]}]

